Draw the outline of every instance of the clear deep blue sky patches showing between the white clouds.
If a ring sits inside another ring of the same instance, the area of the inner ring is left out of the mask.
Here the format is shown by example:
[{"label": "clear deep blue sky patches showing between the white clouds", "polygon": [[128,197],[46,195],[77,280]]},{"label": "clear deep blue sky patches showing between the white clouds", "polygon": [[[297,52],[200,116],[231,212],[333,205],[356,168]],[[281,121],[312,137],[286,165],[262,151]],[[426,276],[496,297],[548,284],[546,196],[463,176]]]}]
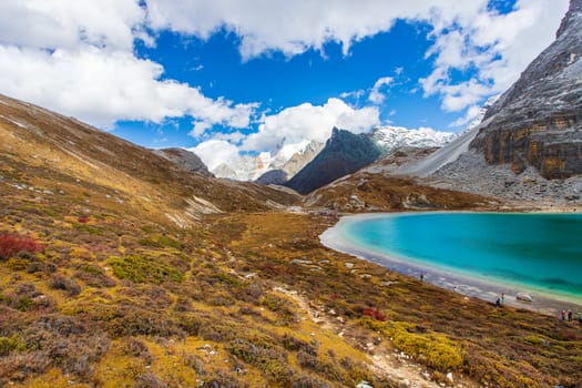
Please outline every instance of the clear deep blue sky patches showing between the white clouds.
[{"label": "clear deep blue sky patches showing between the white clouds", "polygon": [[[340,98],[356,108],[366,106],[368,90],[378,79],[391,76],[391,85],[381,89],[386,95],[380,104],[381,123],[456,131],[459,127],[450,124],[459,113],[443,112],[439,96],[423,96],[418,83],[432,69],[431,61],[423,58],[432,44],[428,31],[430,27],[423,23],[398,21],[389,32],[354,44],[347,55],[339,43],[328,42],[321,51],[310,49],[293,58],[275,52],[244,61],[238,52],[238,37],[224,30],[205,41],[164,32],[155,48],[141,45],[137,52],[142,58],[164,63],[163,78],[198,85],[206,96],[259,102],[255,119],[304,102],[323,105],[330,98]],[[143,133],[142,122],[118,123],[115,132],[150,146],[193,146],[198,142],[193,136],[184,137],[192,130],[187,119],[149,126],[153,140]]]}]

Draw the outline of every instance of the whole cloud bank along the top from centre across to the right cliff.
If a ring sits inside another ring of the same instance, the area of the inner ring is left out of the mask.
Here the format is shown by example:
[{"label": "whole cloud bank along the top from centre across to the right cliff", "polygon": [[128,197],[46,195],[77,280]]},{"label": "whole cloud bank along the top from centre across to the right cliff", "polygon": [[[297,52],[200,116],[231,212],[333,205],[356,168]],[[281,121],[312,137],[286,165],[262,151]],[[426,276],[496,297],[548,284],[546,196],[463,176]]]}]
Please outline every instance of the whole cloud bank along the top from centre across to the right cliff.
[{"label": "whole cloud bank along the top from centre across to the right cliff", "polygon": [[[270,51],[288,57],[340,42],[344,53],[355,42],[388,31],[398,19],[432,27],[435,44],[427,60],[433,71],[423,78],[425,95],[442,98],[442,109],[461,111],[476,100],[499,93],[553,39],[568,0],[518,0],[500,14],[488,0],[147,0],[147,20],[154,29],[171,29],[203,39],[218,29],[241,37],[239,52],[248,60]],[[453,71],[473,75],[453,80]],[[472,86],[478,86],[477,91]],[[372,94],[381,100],[381,94]]]}]

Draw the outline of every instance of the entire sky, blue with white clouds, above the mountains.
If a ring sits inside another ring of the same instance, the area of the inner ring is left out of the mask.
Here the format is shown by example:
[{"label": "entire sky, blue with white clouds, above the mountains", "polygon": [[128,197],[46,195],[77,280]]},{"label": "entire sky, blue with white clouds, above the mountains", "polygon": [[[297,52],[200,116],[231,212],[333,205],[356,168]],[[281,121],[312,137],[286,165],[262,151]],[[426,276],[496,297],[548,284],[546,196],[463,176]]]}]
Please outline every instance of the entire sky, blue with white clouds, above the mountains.
[{"label": "entire sky, blue with white clouds, above the mountains", "polygon": [[568,0],[3,0],[0,92],[208,164],[331,126],[459,131]]}]

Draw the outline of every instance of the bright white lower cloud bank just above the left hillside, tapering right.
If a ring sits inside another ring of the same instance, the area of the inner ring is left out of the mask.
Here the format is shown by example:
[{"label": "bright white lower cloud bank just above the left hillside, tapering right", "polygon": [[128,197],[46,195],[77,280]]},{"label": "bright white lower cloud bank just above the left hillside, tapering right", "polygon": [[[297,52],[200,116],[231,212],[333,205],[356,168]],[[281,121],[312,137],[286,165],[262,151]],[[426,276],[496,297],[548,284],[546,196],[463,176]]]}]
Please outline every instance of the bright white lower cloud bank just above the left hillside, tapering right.
[{"label": "bright white lower cloud bank just above the left hillside, tapering right", "polygon": [[118,120],[160,122],[192,115],[210,127],[245,127],[254,104],[212,100],[196,88],[162,81],[163,68],[125,51],[86,45],[48,52],[0,45],[0,90],[12,96],[108,126]]}]

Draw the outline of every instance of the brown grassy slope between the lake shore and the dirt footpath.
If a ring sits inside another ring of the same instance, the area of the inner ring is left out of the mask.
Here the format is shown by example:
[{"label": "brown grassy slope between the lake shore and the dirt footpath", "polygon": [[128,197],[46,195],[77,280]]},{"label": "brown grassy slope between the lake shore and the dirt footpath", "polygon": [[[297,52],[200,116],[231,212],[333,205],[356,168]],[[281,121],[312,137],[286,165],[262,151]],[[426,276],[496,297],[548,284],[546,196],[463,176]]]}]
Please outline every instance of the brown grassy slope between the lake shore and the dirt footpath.
[{"label": "brown grassy slope between the lake shore and the dirt footpath", "polygon": [[[288,214],[244,219],[247,229],[231,244],[234,252],[248,257],[253,269],[258,268],[266,278],[299,289],[323,310],[346,317],[341,329],[351,328],[361,336],[355,346],[381,333],[388,347],[416,355],[436,370],[456,369],[492,386],[582,384],[582,329],[578,324],[529,310],[496,308],[329,252],[316,238],[329,219]],[[350,268],[346,263],[356,265]],[[378,309],[386,321],[361,319],[366,308]]]}]

